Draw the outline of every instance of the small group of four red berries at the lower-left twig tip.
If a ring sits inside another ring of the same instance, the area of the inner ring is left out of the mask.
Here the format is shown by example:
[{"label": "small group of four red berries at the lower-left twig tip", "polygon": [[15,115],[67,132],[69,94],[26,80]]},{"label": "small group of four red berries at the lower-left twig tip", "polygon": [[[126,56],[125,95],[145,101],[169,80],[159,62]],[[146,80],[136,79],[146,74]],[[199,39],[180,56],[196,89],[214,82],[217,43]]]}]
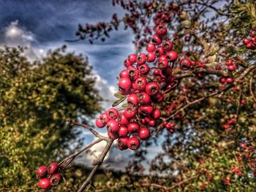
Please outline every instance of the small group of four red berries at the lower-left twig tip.
[{"label": "small group of four red berries at the lower-left twig tip", "polygon": [[43,165],[37,169],[37,179],[39,179],[39,188],[48,191],[51,187],[59,185],[62,180],[59,174],[59,164],[51,163],[48,167]]}]

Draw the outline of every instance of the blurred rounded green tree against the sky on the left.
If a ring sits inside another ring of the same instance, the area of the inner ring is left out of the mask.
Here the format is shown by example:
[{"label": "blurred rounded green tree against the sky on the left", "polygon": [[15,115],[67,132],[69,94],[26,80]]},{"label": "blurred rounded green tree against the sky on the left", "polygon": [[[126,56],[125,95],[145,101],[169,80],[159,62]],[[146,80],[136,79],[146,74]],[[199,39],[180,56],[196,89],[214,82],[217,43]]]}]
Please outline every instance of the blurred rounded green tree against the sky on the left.
[{"label": "blurred rounded green tree against the sky on the left", "polygon": [[[32,63],[23,48],[0,50],[0,185],[35,191],[34,170],[68,155],[80,133],[66,123],[86,123],[101,110],[91,66],[82,55],[53,50]],[[58,158],[58,159],[57,159]]]}]

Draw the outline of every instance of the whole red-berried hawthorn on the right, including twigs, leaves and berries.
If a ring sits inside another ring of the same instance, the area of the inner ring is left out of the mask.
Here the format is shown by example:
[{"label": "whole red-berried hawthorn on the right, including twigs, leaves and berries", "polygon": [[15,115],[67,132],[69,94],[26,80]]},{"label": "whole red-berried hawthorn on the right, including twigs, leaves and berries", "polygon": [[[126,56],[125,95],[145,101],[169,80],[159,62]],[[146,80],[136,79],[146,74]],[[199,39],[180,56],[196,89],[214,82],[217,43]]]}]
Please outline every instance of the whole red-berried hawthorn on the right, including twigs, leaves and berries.
[{"label": "whole red-berried hawthorn on the right, including twigs, leaves and berries", "polygon": [[[105,140],[78,191],[253,191],[256,2],[113,0],[116,5],[126,11],[124,17],[79,25],[76,34],[93,43],[121,25],[133,31],[135,53],[124,61],[113,104],[121,107],[95,122],[106,126],[108,137],[69,119],[97,140],[61,161],[56,172]],[[122,153],[135,150],[134,158],[121,178],[93,183],[115,139]],[[154,142],[159,153],[145,176],[142,163]],[[41,188],[54,184],[46,166],[37,174]]]}]

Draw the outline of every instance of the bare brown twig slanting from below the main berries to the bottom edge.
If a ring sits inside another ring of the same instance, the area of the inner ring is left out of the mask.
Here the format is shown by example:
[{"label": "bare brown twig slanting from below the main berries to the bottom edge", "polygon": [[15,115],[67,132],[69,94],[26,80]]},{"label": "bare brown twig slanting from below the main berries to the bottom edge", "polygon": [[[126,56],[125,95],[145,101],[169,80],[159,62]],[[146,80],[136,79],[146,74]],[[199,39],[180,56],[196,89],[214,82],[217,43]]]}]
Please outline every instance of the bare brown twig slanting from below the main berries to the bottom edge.
[{"label": "bare brown twig slanting from below the main berries to the bottom edge", "polygon": [[104,150],[102,151],[102,154],[99,156],[99,158],[97,159],[97,161],[95,161],[94,168],[91,170],[91,173],[89,174],[89,176],[86,178],[86,180],[83,182],[83,184],[80,186],[80,188],[78,189],[78,192],[82,192],[83,190],[85,190],[85,188],[92,183],[92,180],[94,178],[94,174],[97,172],[97,170],[99,169],[99,166],[102,164],[105,156],[107,155],[108,151],[110,150],[111,145],[113,144],[113,140],[112,139],[108,139],[107,141],[107,145],[105,146]]}]

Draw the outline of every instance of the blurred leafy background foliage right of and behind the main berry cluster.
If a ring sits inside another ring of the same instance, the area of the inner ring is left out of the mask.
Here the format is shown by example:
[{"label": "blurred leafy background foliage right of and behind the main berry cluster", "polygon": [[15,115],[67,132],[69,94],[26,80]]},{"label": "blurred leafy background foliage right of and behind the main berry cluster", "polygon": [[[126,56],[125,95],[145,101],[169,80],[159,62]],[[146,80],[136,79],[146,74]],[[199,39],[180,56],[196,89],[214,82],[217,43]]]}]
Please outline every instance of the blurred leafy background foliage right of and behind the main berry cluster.
[{"label": "blurred leafy background foliage right of and behind the main berry cluster", "polygon": [[[134,33],[135,50],[140,52],[151,41],[154,27],[165,23],[171,31],[168,35],[173,39],[174,50],[198,65],[204,64],[203,71],[195,68],[189,72],[174,65],[173,75],[178,83],[166,91],[165,101],[157,105],[162,119],[159,126],[151,128],[152,140],[135,152],[127,174],[120,180],[96,180],[95,186],[101,186],[102,191],[132,191],[138,187],[141,191],[254,191],[256,54],[255,49],[246,49],[242,39],[256,29],[255,4],[113,0],[113,5],[124,9],[124,17],[114,14],[109,23],[78,27],[78,37],[93,43],[97,39],[105,41],[111,31],[123,24]],[[234,72],[227,70],[228,60],[238,66]],[[252,70],[246,72],[250,67]],[[219,77],[233,77],[237,82],[226,87]],[[123,99],[118,93],[116,96],[119,100],[114,105]],[[176,123],[174,134],[161,126],[165,120]],[[142,163],[154,142],[159,153],[149,162],[148,176],[130,177],[143,176]]]}]

